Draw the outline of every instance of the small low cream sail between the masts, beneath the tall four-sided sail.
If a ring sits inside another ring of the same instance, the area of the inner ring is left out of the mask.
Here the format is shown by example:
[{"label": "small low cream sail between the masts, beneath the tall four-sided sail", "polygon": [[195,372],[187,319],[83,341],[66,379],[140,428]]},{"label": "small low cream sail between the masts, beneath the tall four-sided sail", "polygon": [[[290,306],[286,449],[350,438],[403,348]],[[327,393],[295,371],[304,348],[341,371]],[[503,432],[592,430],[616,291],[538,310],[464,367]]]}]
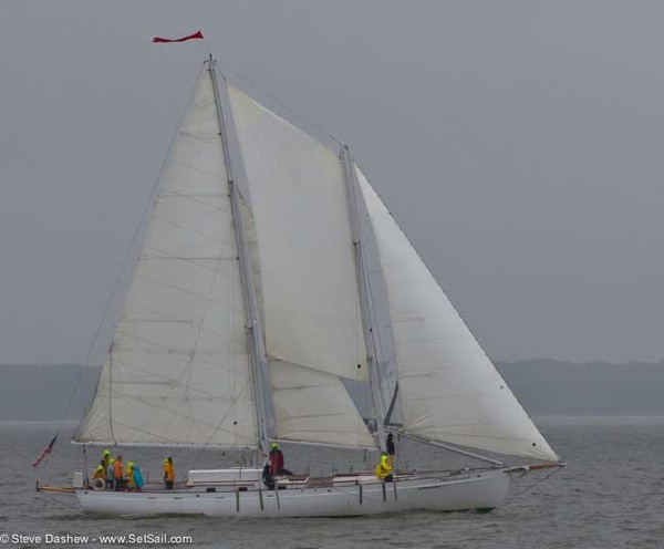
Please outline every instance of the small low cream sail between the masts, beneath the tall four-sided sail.
[{"label": "small low cream sail between the masts, beneath the tall four-sided sail", "polygon": [[281,441],[374,448],[375,443],[336,375],[270,362],[276,436]]}]

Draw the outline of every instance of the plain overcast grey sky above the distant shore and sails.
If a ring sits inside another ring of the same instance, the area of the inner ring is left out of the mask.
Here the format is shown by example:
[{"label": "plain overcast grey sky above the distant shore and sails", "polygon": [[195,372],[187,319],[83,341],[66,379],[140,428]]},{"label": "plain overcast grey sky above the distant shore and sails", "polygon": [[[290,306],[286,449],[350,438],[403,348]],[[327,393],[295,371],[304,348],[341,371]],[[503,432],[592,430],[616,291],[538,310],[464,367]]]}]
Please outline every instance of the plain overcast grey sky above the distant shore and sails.
[{"label": "plain overcast grey sky above the distant shore and sails", "polygon": [[208,51],[351,145],[492,359],[664,358],[663,20],[654,1],[2,2],[0,363],[83,361]]}]

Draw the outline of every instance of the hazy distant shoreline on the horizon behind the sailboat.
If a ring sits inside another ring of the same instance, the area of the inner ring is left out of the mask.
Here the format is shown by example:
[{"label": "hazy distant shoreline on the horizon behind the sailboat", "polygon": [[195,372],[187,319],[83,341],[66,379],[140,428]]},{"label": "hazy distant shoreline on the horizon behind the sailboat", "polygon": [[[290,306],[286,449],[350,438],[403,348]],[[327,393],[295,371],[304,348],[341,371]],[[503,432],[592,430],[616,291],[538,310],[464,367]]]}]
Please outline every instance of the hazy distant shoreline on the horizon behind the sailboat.
[{"label": "hazy distant shoreline on the horizon behind the sailboat", "polygon": [[[664,417],[664,361],[614,364],[536,359],[496,362],[496,366],[537,421]],[[53,418],[63,416],[75,423],[90,404],[98,376],[100,367],[76,364],[0,365],[0,424],[59,423]],[[353,397],[361,393],[352,386],[349,391]]]}]

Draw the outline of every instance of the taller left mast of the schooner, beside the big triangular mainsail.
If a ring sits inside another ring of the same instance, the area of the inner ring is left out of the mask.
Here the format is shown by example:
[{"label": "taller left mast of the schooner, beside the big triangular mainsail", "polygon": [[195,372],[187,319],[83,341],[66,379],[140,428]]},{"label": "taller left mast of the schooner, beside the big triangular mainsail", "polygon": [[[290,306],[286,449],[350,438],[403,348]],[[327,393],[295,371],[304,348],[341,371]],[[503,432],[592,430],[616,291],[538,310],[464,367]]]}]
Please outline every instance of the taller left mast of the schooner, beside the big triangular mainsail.
[{"label": "taller left mast of the schooner, beside the big triangular mainsail", "polygon": [[230,159],[230,132],[227,121],[224,116],[219,82],[217,81],[217,72],[215,70],[215,60],[211,55],[207,63],[208,72],[212,82],[212,89],[215,93],[215,105],[217,108],[217,117],[219,121],[219,136],[221,137],[221,145],[224,147],[224,162],[226,164],[228,195],[230,197],[232,222],[235,227],[236,242],[238,247],[238,256],[240,262],[240,274],[242,279],[242,289],[245,293],[245,310],[247,314],[246,328],[248,330],[247,338],[250,341],[249,354],[251,355],[251,367],[253,374],[253,394],[256,396],[259,444],[263,454],[267,455],[267,453],[270,449],[270,439],[273,431],[273,407],[271,393],[269,390],[268,358],[266,354],[262,324],[260,321],[258,301],[256,298],[256,286],[253,283],[250,256],[247,247],[247,238],[245,235],[245,227],[242,224],[242,216],[240,211],[240,200],[234,178],[232,164]]}]

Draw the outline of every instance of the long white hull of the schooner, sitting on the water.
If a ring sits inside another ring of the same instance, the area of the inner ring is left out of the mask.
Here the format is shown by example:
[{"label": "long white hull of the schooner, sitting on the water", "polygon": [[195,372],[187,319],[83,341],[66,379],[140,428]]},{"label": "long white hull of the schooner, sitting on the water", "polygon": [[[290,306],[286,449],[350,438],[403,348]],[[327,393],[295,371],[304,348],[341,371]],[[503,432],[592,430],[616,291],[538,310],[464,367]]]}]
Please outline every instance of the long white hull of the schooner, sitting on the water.
[{"label": "long white hull of the schooner, sitting on the water", "polygon": [[375,477],[336,477],[319,487],[206,491],[122,493],[77,489],[86,512],[118,515],[189,514],[210,517],[343,517],[406,509],[453,511],[490,509],[507,497],[511,475],[507,469],[404,476],[395,483]]}]

